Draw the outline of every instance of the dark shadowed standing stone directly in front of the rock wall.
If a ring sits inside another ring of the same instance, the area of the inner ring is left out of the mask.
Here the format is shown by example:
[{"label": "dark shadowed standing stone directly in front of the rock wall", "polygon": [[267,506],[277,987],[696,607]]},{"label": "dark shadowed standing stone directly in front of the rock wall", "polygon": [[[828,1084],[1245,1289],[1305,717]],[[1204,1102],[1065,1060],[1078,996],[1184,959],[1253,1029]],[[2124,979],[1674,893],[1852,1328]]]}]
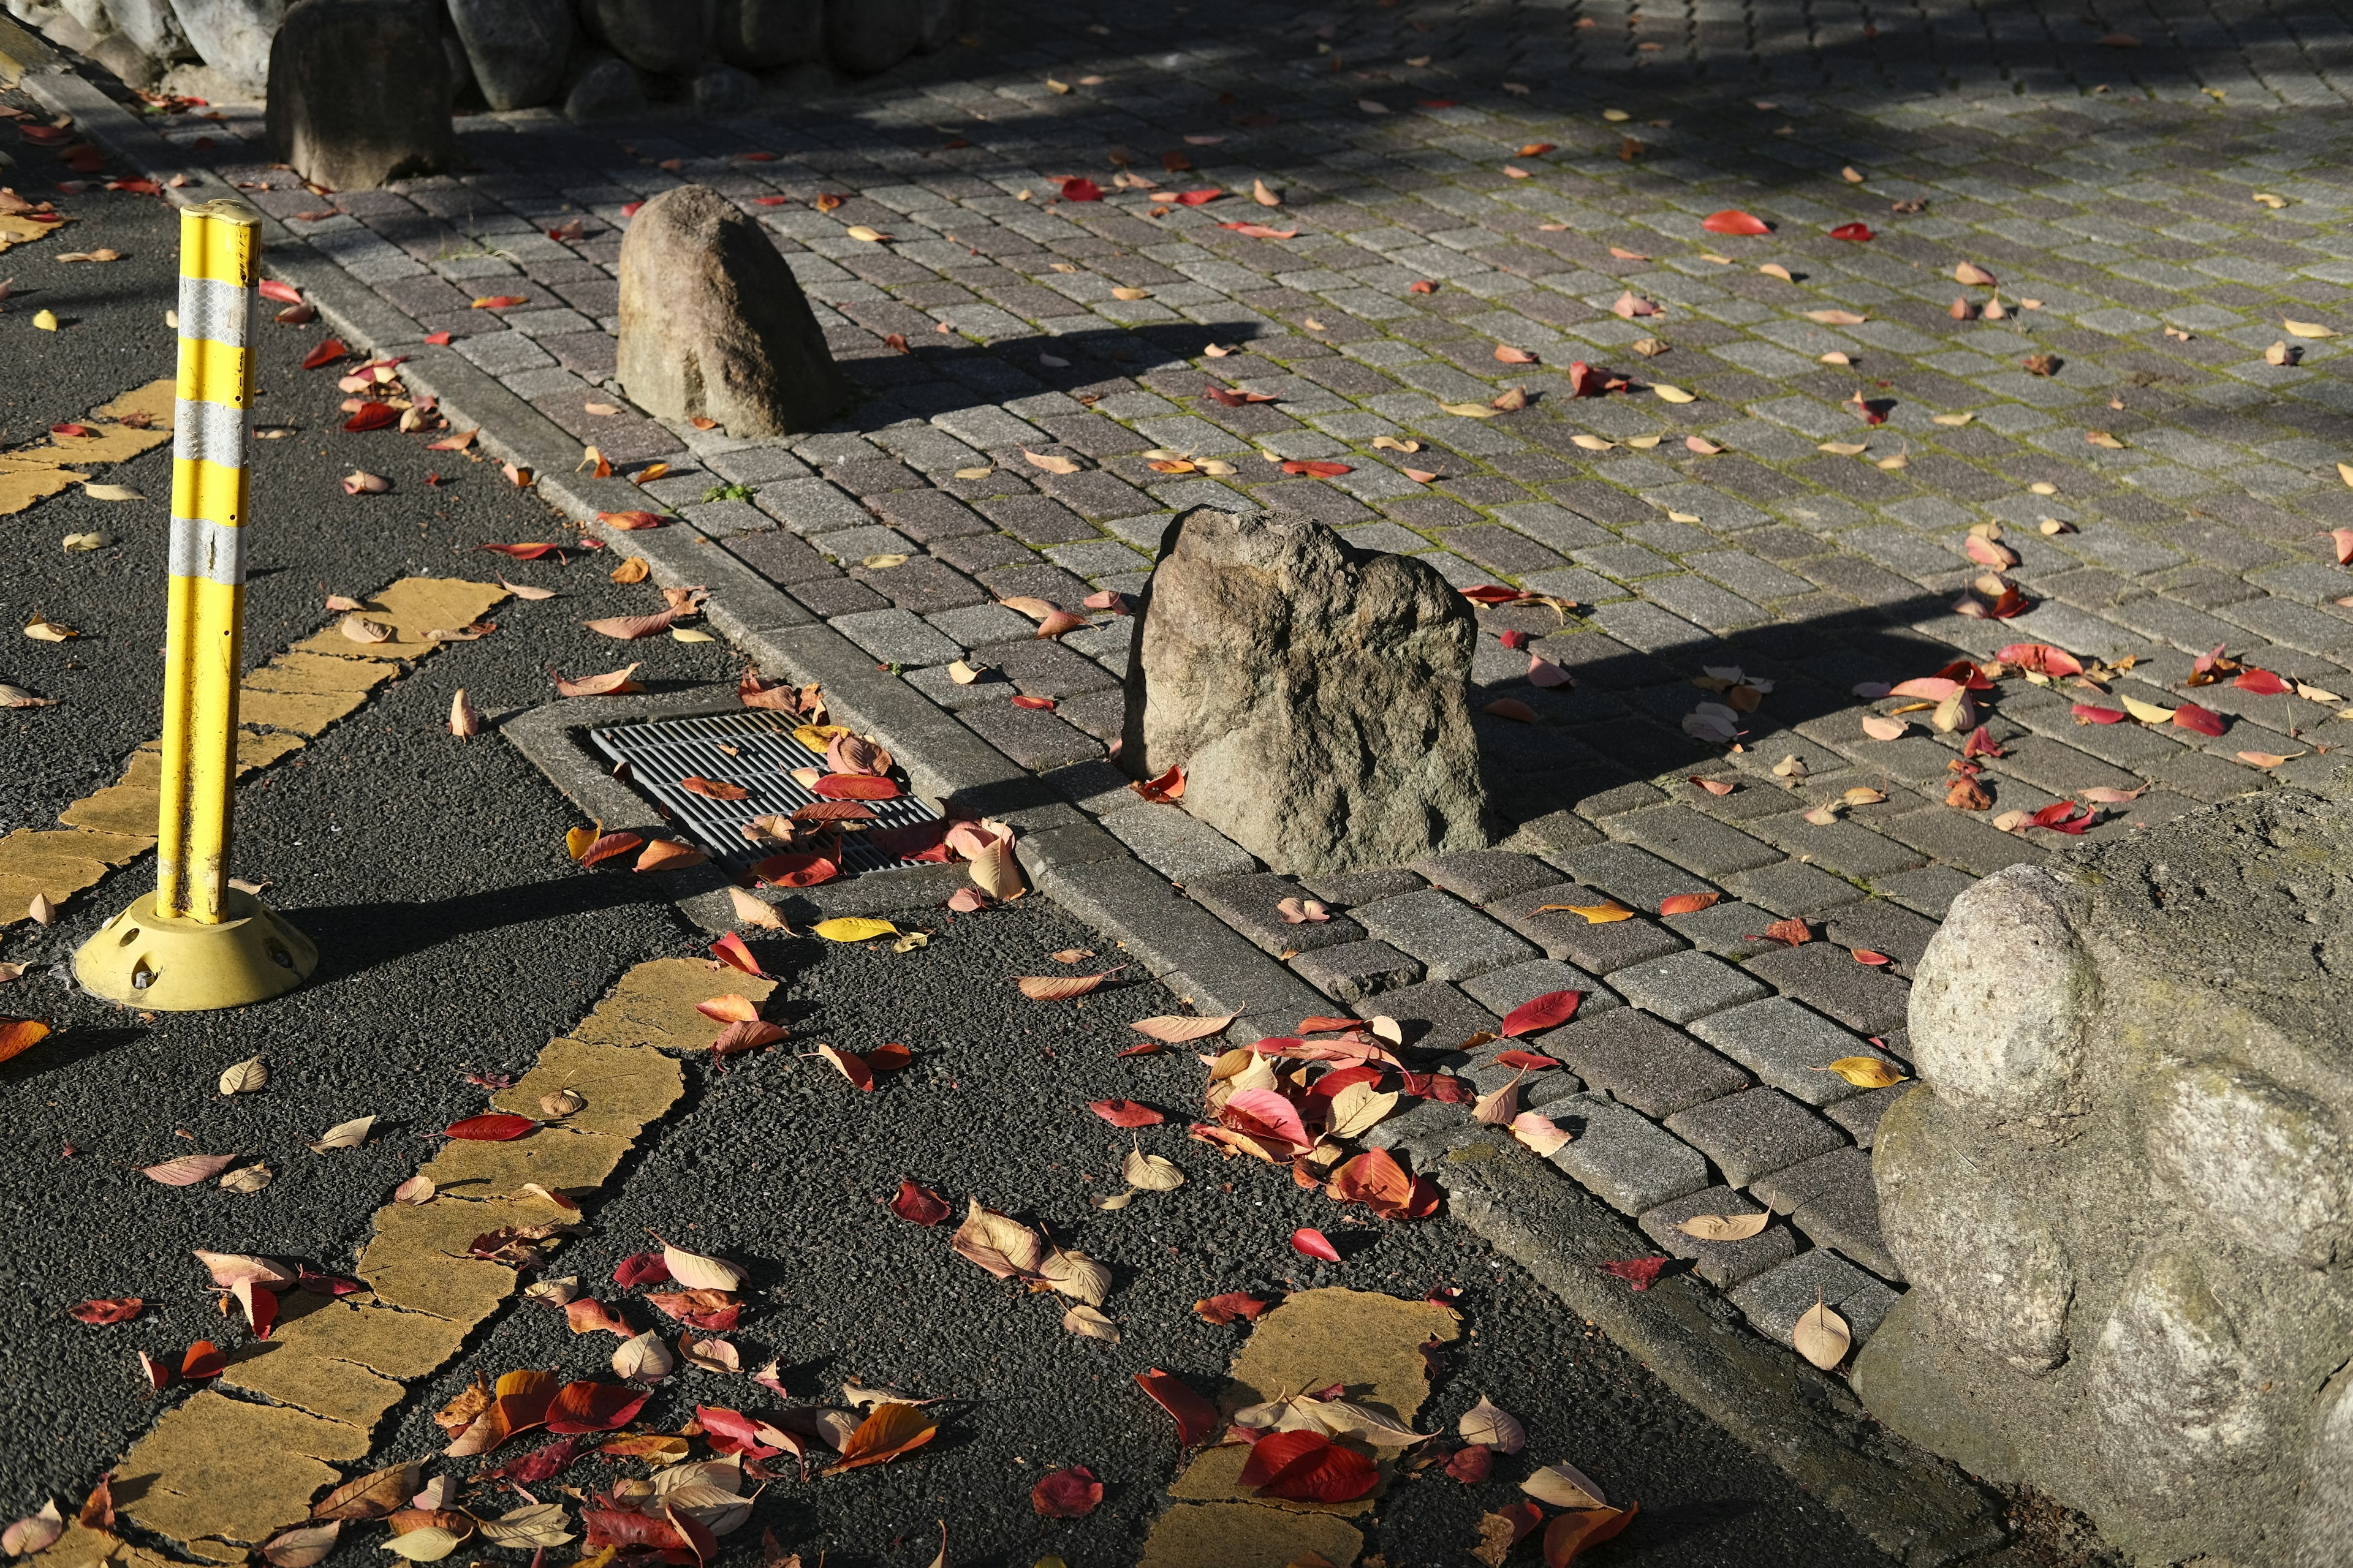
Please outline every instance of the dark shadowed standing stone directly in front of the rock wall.
[{"label": "dark shadowed standing stone directly in front of the rock wall", "polygon": [[327,190],[459,162],[449,61],[424,0],[301,0],[271,40],[268,82],[271,146]]}]

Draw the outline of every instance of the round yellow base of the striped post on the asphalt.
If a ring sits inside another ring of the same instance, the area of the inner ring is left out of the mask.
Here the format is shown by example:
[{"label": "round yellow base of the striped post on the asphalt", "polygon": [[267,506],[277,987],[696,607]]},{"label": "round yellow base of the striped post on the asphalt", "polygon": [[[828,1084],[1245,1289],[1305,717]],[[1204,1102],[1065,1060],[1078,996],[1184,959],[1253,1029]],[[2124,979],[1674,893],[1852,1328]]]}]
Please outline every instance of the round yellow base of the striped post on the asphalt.
[{"label": "round yellow base of the striped post on the asphalt", "polygon": [[318,969],[311,938],[252,893],[228,889],[221,924],[165,919],[155,893],[99,926],[73,954],[73,978],[94,997],[155,1013],[202,1013],[285,994]]}]

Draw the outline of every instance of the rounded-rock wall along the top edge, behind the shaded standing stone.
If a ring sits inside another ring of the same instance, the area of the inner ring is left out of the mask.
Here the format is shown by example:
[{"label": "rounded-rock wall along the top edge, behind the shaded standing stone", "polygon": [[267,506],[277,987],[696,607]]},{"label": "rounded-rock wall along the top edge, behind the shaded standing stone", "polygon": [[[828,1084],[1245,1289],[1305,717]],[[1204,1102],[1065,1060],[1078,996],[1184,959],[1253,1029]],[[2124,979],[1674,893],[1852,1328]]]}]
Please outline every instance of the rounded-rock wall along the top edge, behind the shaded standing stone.
[{"label": "rounded-rock wall along the top edge, behind the shaded standing stone", "polygon": [[[762,92],[821,94],[941,47],[972,0],[428,0],[459,106],[572,118],[692,103],[744,113]],[[132,87],[259,99],[294,0],[0,0]],[[188,68],[195,68],[191,75]]]}]

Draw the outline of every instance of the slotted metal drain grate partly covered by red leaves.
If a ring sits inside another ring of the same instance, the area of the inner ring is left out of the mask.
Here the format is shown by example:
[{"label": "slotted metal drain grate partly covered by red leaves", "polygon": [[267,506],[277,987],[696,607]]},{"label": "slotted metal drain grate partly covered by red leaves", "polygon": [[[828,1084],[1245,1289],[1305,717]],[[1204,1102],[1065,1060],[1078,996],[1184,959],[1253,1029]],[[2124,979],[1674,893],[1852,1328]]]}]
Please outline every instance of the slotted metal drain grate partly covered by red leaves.
[{"label": "slotted metal drain grate partly covered by red leaves", "polygon": [[[591,729],[588,738],[612,762],[626,762],[628,783],[722,865],[751,865],[774,853],[774,849],[746,842],[744,823],[755,816],[791,816],[807,806],[816,795],[793,778],[793,769],[824,771],[826,766],[824,755],[795,741],[793,726],[772,712],[612,724]],[[722,748],[734,748],[734,752]],[[741,785],[751,795],[744,799],[692,795],[680,788],[687,776]],[[875,813],[875,827],[939,820],[936,811],[906,795],[861,804]],[[864,832],[842,835],[845,872],[871,872],[885,865],[899,865],[899,860],[868,844]]]}]

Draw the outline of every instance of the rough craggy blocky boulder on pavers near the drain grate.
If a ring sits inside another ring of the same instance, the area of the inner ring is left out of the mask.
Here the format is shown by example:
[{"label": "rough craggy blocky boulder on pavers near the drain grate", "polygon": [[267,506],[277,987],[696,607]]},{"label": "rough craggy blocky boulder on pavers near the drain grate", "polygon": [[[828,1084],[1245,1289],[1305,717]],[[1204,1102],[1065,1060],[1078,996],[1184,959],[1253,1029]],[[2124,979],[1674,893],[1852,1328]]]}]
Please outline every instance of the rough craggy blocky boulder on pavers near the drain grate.
[{"label": "rough craggy blocky boulder on pavers near the drain grate", "polygon": [[1480,849],[1475,621],[1428,567],[1313,517],[1186,512],[1136,618],[1120,764],[1278,872]]}]

